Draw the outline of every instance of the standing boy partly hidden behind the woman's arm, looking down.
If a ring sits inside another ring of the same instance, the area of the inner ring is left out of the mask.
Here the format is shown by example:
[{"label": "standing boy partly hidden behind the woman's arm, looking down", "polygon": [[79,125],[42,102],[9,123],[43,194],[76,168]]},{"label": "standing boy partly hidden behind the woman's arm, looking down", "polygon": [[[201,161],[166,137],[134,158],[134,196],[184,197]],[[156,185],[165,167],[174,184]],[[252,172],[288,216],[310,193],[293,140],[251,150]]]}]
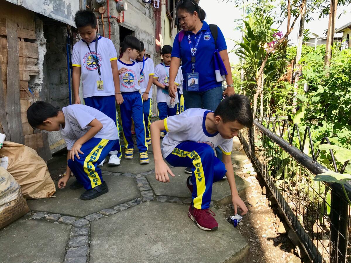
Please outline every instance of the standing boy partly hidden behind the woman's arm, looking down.
[{"label": "standing boy partly hidden behind the woman's arm, looking down", "polygon": [[[168,80],[170,74],[170,65],[171,65],[171,53],[172,47],[170,45],[165,45],[161,49],[161,55],[163,58],[163,62],[158,64],[155,67],[155,75],[153,83],[157,86],[157,107],[158,107],[158,117],[160,120],[164,120],[167,116],[173,116],[177,114],[177,107],[170,108],[167,105],[167,99],[170,99],[170,95],[168,95]],[[178,86],[180,83],[180,75],[178,71],[178,75],[174,83]],[[176,94],[176,103],[178,103],[178,94]],[[161,137],[164,137],[166,131],[161,131]]]}]

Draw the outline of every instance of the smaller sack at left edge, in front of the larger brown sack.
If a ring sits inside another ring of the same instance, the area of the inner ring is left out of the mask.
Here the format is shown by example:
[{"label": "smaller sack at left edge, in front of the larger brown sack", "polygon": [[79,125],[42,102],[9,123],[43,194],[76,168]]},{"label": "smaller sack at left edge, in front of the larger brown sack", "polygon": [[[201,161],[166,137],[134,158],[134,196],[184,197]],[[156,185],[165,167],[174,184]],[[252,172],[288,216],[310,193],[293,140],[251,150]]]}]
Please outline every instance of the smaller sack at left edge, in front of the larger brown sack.
[{"label": "smaller sack at left edge, in front of the larger brown sack", "polygon": [[0,229],[29,211],[21,187],[15,178],[0,167]]}]

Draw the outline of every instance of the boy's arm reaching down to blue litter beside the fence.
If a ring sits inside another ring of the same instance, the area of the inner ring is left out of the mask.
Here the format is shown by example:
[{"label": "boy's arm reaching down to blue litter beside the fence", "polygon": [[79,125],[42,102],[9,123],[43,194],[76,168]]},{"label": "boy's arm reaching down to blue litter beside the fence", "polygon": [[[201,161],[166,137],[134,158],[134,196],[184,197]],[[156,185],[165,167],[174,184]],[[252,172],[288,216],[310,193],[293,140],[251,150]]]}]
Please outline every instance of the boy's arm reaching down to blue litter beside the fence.
[{"label": "boy's arm reaching down to blue litter beside the fence", "polygon": [[238,209],[237,207],[240,207],[241,210],[243,210],[243,213],[241,215],[245,215],[248,211],[246,205],[244,204],[243,200],[241,200],[240,196],[238,195],[238,190],[237,186],[235,184],[235,177],[234,177],[234,171],[233,171],[233,165],[232,165],[232,158],[230,155],[223,154],[222,161],[225,165],[225,169],[227,169],[227,180],[230,186],[230,191],[232,193],[232,203],[234,206],[234,213],[237,214]]}]

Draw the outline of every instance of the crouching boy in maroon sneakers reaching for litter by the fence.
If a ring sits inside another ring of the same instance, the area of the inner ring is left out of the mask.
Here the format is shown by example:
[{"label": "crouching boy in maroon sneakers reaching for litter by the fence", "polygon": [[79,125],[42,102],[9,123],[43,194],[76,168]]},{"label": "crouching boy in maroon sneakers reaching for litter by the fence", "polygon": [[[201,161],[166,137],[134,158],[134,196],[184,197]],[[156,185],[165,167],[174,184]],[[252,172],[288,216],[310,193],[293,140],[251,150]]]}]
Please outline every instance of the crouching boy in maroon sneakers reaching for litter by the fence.
[{"label": "crouching boy in maroon sneakers reaching for litter by the fence", "polygon": [[[238,195],[231,160],[233,137],[244,127],[251,127],[253,118],[250,101],[244,95],[232,95],[221,101],[215,112],[206,109],[187,109],[151,124],[151,140],[155,158],[156,180],[170,182],[173,173],[163,160],[172,166],[192,167],[192,176],[186,180],[193,202],[188,216],[203,230],[214,230],[218,223],[210,214],[212,184],[225,175],[232,193],[235,214],[239,206],[246,214],[247,207]],[[160,133],[167,134],[160,146]],[[223,162],[214,156],[220,147]],[[162,157],[163,156],[163,157]]]}]

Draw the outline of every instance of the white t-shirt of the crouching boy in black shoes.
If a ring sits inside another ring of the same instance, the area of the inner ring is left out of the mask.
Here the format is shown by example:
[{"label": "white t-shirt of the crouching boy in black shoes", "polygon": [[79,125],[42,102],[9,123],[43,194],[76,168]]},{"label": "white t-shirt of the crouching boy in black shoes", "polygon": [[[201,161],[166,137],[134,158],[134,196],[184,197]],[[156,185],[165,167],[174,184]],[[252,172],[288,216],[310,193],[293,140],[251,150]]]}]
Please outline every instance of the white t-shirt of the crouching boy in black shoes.
[{"label": "white t-shirt of the crouching boy in black shoes", "polygon": [[60,128],[60,133],[67,144],[67,150],[71,150],[73,144],[91,128],[88,125],[97,119],[102,124],[102,129],[95,134],[94,138],[118,140],[119,134],[114,121],[97,109],[83,105],[72,104],[62,108],[65,115],[65,128]]}]

